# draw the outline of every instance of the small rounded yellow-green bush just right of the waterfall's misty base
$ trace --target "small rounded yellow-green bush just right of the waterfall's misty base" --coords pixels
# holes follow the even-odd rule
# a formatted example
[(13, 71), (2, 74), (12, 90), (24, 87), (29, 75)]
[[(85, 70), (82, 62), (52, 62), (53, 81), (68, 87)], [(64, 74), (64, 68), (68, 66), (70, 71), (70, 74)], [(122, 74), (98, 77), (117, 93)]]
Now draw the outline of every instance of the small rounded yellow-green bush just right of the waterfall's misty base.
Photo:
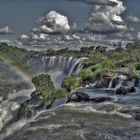
[(80, 86), (80, 81), (77, 77), (74, 76), (66, 77), (62, 81), (62, 87), (65, 88), (68, 92), (74, 90), (79, 86)]

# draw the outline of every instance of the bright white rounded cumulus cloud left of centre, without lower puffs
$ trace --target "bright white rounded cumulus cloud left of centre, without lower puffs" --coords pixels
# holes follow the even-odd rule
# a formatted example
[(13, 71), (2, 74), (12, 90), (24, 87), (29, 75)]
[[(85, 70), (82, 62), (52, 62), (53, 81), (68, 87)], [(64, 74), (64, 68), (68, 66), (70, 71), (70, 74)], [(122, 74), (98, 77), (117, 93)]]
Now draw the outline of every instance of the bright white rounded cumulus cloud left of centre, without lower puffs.
[[(66, 33), (70, 31), (68, 18), (56, 11), (50, 11), (46, 16), (39, 18), (43, 23), (39, 30), (44, 33)], [(38, 29), (34, 29), (38, 30)]]

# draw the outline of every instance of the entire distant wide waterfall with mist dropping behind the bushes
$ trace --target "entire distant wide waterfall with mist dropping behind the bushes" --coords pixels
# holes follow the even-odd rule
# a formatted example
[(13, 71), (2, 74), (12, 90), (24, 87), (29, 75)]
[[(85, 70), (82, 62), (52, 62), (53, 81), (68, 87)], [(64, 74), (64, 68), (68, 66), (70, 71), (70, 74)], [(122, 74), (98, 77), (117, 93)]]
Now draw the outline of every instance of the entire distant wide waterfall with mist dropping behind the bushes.
[(72, 56), (37, 57), (30, 62), (29, 68), (33, 75), (40, 73), (50, 74), (56, 88), (59, 88), (64, 77), (80, 72), (83, 68), (82, 62), (85, 59), (84, 57), (75, 58)]

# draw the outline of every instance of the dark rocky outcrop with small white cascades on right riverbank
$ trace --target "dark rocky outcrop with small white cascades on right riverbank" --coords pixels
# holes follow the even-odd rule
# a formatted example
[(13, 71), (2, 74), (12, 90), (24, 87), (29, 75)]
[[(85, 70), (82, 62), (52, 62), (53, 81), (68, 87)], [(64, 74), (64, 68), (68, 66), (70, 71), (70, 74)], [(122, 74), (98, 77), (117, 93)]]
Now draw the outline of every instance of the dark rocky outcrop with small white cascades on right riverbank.
[(134, 81), (130, 79), (128, 69), (120, 68), (102, 75), (94, 88), (114, 89), (116, 94), (125, 95), (136, 91)]

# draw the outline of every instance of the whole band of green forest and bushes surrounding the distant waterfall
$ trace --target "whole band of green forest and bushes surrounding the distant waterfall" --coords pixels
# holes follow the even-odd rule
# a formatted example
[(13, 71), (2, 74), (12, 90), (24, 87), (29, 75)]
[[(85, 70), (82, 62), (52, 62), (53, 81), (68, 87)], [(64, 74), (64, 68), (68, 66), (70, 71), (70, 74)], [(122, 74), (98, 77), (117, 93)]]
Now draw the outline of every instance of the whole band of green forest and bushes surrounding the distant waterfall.
[[(50, 104), (57, 98), (63, 97), (79, 86), (84, 86), (90, 81), (94, 81), (101, 75), (108, 73), (115, 68), (128, 68), (130, 77), (138, 77), (137, 70), (140, 69), (140, 44), (128, 44), (127, 50), (118, 48), (117, 50), (105, 51), (101, 46), (95, 50), (94, 46), (81, 48), (78, 50), (62, 49), (59, 51), (47, 50), (46, 52), (27, 51), (26, 49), (0, 44), (0, 59), (18, 68), (30, 76), (28, 61), (41, 58), (43, 56), (73, 56), (75, 58), (86, 57), (83, 70), (77, 74), (67, 77), (62, 82), (61, 90), (56, 90), (50, 76), (40, 75), (33, 78), (33, 83), (39, 93), (40, 99), (47, 99)], [(32, 75), (31, 75), (32, 77)]]

